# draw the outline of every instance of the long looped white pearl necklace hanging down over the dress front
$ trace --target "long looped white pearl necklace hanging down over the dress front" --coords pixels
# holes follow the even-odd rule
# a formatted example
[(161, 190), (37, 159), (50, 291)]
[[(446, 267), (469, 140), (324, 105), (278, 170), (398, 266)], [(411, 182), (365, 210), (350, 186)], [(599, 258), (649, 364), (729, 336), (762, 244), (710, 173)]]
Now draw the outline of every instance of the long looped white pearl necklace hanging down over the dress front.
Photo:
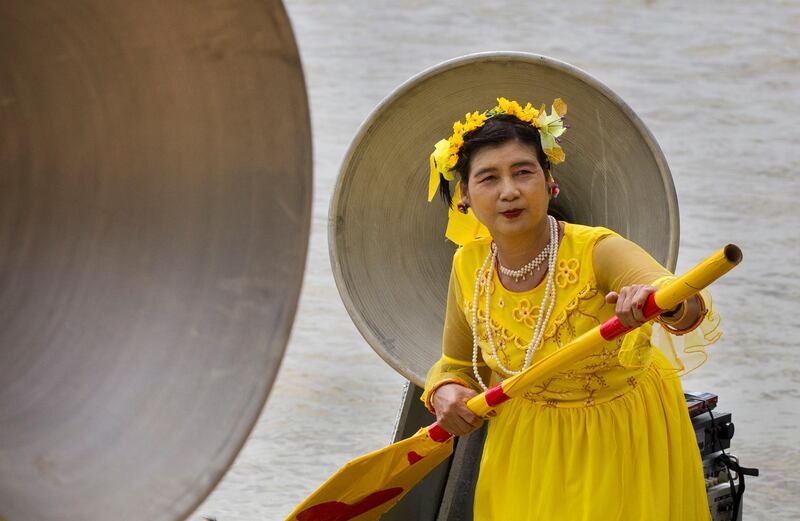
[[(492, 336), (492, 328), (491, 328), (491, 318), (489, 317), (489, 305), (491, 303), (491, 291), (490, 286), (492, 283), (492, 274), (494, 264), (497, 261), (497, 245), (492, 244), (492, 247), (489, 251), (489, 254), (486, 256), (486, 260), (483, 261), (483, 266), (481, 266), (480, 271), (478, 272), (478, 278), (475, 281), (475, 293), (472, 299), (472, 372), (475, 374), (475, 378), (483, 388), (486, 390), (486, 384), (483, 382), (480, 373), (478, 372), (478, 293), (480, 290), (481, 280), (483, 279), (484, 273), (486, 274), (486, 282), (485, 282), (485, 292), (486, 292), (486, 318), (484, 320), (484, 327), (486, 328), (486, 337), (489, 341), (489, 346), (492, 349), (492, 358), (497, 363), (497, 367), (500, 368), (501, 371), (506, 373), (508, 376), (519, 374), (525, 369), (530, 366), (531, 360), (533, 359), (533, 355), (539, 349), (539, 345), (541, 344), (542, 337), (544, 336), (544, 330), (547, 323), (550, 321), (550, 315), (553, 312), (553, 306), (556, 303), (556, 286), (554, 283), (554, 273), (556, 271), (556, 256), (558, 254), (558, 223), (556, 222), (555, 218), (552, 216), (548, 216), (548, 222), (550, 224), (550, 242), (548, 243), (549, 248), (547, 255), (547, 282), (545, 283), (544, 288), (544, 296), (542, 297), (542, 302), (539, 305), (539, 318), (536, 320), (536, 326), (533, 328), (533, 338), (531, 338), (528, 347), (525, 349), (525, 362), (522, 364), (522, 367), (519, 371), (513, 371), (503, 365), (500, 361), (500, 357), (497, 355), (497, 346), (494, 343), (494, 338)], [(488, 273), (487, 273), (487, 266), (488, 266)], [(547, 313), (542, 313), (542, 310), (547, 307)]]

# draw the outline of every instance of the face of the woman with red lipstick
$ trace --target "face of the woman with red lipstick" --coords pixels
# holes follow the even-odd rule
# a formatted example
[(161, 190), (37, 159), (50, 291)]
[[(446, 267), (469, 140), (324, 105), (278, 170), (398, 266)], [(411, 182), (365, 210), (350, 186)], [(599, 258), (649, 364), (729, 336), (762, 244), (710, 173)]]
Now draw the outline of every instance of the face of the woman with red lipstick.
[(549, 195), (533, 147), (509, 141), (479, 149), (472, 156), (462, 198), (495, 239), (540, 229)]

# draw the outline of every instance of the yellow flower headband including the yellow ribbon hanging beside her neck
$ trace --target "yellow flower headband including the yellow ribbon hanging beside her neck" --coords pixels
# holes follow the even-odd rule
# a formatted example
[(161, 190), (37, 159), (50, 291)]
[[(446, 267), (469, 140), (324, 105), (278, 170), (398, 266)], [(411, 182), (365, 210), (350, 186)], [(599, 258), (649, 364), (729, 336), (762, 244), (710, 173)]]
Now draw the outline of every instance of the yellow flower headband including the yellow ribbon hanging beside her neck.
[[(545, 106), (536, 110), (530, 103), (522, 108), (516, 101), (506, 98), (497, 98), (497, 106), (480, 112), (467, 113), (465, 120), (453, 123), (453, 135), (436, 143), (430, 157), (431, 174), (428, 180), (428, 202), (436, 195), (442, 178), (453, 181), (453, 168), (458, 162), (458, 152), (464, 145), (464, 134), (482, 127), (487, 120), (500, 115), (509, 114), (517, 119), (529, 123), (539, 131), (542, 149), (551, 164), (557, 165), (564, 161), (564, 151), (561, 149), (559, 139), (569, 128), (564, 123), (567, 113), (567, 104), (561, 98), (553, 101), (552, 110), (548, 115)], [(461, 199), (461, 183), (456, 183), (453, 199)], [(489, 230), (475, 217), (471, 209), (461, 213), (448, 209), (447, 232), (445, 236), (456, 244), (464, 245), (472, 240), (489, 236)]]

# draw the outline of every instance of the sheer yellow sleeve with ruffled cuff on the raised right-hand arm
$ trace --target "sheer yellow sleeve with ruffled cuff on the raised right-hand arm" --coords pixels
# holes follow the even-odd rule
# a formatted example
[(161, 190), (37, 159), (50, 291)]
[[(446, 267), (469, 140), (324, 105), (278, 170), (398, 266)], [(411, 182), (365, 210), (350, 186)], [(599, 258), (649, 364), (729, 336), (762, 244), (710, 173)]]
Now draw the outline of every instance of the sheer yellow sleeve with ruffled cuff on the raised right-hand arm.
[[(595, 279), (600, 291), (619, 291), (620, 288), (632, 284), (650, 284), (655, 287), (663, 285), (675, 276), (661, 266), (637, 244), (619, 236), (608, 236), (600, 239), (592, 252)], [(711, 294), (707, 290), (700, 292), (705, 306), (706, 315), (700, 326), (695, 330), (681, 336), (667, 332), (658, 323), (652, 324), (650, 343), (656, 346), (666, 358), (661, 364), (662, 369), (672, 371), (676, 376), (682, 376), (697, 369), (708, 360), (706, 346), (715, 343), (722, 336), (720, 317), (714, 311)], [(642, 326), (642, 333), (648, 326)], [(632, 335), (627, 335), (632, 336)], [(634, 338), (627, 338), (619, 352), (620, 362), (623, 365), (635, 365), (633, 360), (638, 360), (636, 350), (641, 348), (641, 342)]]

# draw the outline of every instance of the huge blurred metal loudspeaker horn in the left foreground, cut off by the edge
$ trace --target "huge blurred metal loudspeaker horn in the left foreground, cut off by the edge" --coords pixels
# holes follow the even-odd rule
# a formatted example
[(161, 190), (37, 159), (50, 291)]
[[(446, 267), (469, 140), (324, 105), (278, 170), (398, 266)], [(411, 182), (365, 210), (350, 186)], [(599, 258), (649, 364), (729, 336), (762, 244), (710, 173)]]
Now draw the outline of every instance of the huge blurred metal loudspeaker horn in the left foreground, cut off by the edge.
[(272, 386), (310, 223), (278, 0), (0, 4), (0, 519), (184, 519)]

